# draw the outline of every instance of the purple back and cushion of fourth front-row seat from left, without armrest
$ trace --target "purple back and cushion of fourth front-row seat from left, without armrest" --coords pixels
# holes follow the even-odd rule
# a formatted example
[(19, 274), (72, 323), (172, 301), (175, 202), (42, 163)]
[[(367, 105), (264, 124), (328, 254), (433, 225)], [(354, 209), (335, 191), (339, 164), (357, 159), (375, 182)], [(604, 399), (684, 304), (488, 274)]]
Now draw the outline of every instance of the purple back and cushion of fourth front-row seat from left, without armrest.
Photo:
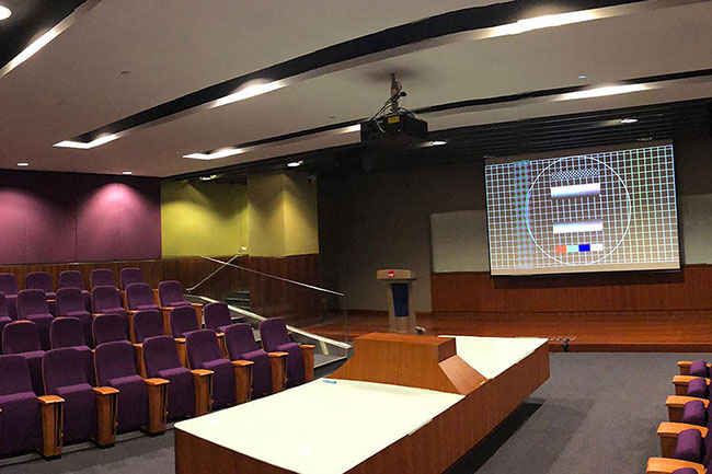
[(143, 342), (143, 365), (150, 378), (165, 379), (169, 419), (182, 418), (195, 412), (195, 389), (191, 371), (181, 366), (175, 343), (170, 336), (149, 337)]

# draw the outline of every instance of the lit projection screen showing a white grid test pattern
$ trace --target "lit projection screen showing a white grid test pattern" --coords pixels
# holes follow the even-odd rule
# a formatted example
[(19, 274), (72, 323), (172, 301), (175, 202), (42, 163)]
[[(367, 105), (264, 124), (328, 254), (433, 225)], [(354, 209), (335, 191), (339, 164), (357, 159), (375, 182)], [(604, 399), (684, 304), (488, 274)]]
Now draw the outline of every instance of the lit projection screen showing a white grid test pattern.
[[(487, 164), (485, 183), (493, 274), (679, 263), (671, 144)], [(552, 186), (592, 183), (599, 195), (551, 198)], [(582, 221), (604, 230), (553, 233), (554, 223)], [(602, 251), (556, 253), (578, 244)]]

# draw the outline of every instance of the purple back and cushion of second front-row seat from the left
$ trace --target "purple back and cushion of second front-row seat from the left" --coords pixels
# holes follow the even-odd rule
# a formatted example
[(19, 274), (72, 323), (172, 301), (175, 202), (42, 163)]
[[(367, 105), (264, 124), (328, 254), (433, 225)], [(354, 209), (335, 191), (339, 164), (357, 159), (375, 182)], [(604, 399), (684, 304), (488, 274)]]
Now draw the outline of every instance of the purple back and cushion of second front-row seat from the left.
[(51, 349), (43, 357), (42, 368), (47, 394), (65, 398), (65, 442), (95, 438), (96, 398), (80, 352), (69, 347)]

